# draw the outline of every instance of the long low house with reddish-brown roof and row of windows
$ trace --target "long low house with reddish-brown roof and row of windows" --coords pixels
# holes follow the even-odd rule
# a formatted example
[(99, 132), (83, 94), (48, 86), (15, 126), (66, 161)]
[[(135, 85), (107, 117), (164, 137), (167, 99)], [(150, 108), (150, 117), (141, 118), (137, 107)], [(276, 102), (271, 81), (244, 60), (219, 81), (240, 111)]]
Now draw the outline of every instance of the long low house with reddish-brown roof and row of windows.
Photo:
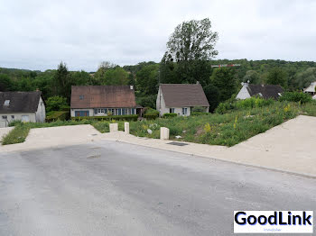
[(71, 117), (136, 114), (140, 109), (134, 86), (71, 86)]

